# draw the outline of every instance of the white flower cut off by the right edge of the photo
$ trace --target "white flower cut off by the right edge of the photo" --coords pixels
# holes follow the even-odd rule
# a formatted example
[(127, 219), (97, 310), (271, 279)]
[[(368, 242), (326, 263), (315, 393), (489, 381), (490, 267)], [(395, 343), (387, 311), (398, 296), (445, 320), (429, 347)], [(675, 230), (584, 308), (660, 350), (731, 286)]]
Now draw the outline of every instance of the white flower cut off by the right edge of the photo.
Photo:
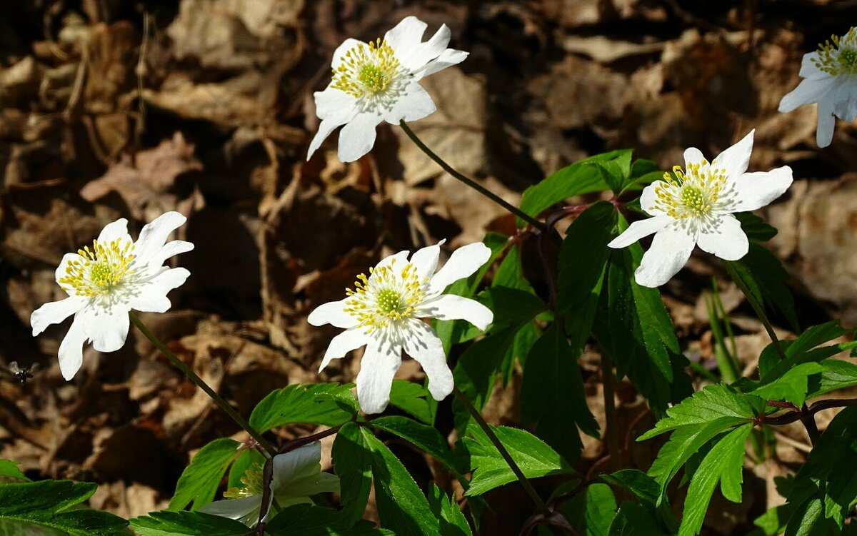
[(818, 103), (816, 142), (829, 146), (836, 117), (849, 122), (857, 117), (857, 30), (852, 27), (842, 38), (830, 36), (817, 51), (804, 54), (800, 76), (805, 80), (782, 98), (779, 110)]

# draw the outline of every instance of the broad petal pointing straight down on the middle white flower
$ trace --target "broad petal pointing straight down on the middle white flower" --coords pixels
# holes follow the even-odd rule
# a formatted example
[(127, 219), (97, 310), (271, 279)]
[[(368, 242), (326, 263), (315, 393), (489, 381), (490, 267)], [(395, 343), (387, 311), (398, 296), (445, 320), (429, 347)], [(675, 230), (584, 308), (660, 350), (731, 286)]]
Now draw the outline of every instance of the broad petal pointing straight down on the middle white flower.
[(357, 373), (357, 400), (367, 414), (380, 414), (390, 402), (393, 376), (402, 365), (402, 348), (373, 340), (363, 352)]

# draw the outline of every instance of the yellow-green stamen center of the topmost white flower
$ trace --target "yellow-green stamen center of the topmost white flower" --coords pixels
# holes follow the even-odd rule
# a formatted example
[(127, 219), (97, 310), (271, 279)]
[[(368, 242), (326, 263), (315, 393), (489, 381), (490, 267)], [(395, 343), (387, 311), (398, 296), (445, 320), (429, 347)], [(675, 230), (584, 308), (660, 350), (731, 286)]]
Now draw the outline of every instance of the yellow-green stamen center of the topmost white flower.
[(361, 43), (345, 52), (333, 69), (333, 87), (357, 98), (383, 92), (399, 73), (399, 60), (387, 41)]

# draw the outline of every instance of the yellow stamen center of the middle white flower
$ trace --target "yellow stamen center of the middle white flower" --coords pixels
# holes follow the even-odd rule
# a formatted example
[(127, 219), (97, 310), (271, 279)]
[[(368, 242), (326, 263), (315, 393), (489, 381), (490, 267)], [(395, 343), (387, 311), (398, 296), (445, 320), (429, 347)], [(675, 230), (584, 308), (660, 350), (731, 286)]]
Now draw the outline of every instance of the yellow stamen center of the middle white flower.
[(345, 289), (350, 298), (345, 301), (345, 313), (355, 317), (357, 327), (367, 328), (367, 333), (386, 328), (391, 323), (409, 319), (425, 297), (424, 285), (417, 269), (411, 263), (396, 270), (396, 259), (389, 265), (369, 269), (371, 278), (365, 274), (357, 276), (354, 290)]

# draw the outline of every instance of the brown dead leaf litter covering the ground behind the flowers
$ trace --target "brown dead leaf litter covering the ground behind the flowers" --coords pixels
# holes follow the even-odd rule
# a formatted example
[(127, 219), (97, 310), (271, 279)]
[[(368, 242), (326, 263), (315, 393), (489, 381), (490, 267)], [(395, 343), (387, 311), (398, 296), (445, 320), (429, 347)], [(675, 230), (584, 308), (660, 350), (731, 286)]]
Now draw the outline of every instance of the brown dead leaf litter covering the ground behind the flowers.
[[(428, 22), (426, 38), (445, 23), (450, 46), (470, 52), (423, 80), (438, 111), (412, 128), (512, 202), (596, 152), (632, 147), (671, 169), (687, 146), (713, 157), (755, 128), (751, 170), (794, 169), (794, 186), (764, 216), (780, 231), (768, 246), (791, 276), (801, 325), (830, 316), (854, 325), (857, 128), (837, 122), (819, 150), (813, 105), (776, 111), (800, 57), (857, 21), (854, 0), (3, 0), (0, 369), (40, 368), (27, 384), (0, 381), (0, 458), (33, 478), (99, 482), (93, 506), (127, 517), (165, 508), (201, 445), (243, 438), (133, 331), (118, 352), (87, 348), (71, 382), (56, 357), (69, 322), (31, 336), (30, 313), (63, 297), (54, 280), (63, 253), (118, 217), (132, 235), (165, 211), (189, 217), (178, 237), (196, 248), (176, 262), (192, 275), (169, 313), (143, 319), (243, 414), (285, 384), (355, 377), (351, 359), (316, 373), (336, 331), (305, 319), (376, 260), (441, 238), (448, 253), (487, 230), (514, 233), (512, 217), (440, 172), (399, 128), (382, 125), (356, 163), (339, 163), (336, 133), (305, 161), (318, 126), (312, 94), (330, 81), (333, 50), (382, 37), (407, 15)], [(543, 289), (540, 267), (524, 268)], [(704, 254), (662, 289), (683, 348), (713, 367), (712, 277), (752, 371), (764, 331)], [(587, 352), (581, 366), (602, 419), (598, 362)], [(422, 372), (405, 360), (399, 378)], [(489, 420), (520, 425), (516, 389), (514, 379), (498, 388)], [(627, 383), (617, 402), (625, 454), (645, 470), (657, 447), (633, 441), (651, 424), (645, 402)], [(778, 433), (776, 458), (746, 468), (744, 503), (714, 499), (707, 533), (744, 534), (782, 503), (773, 479), (809, 442), (800, 425)], [(393, 448), (418, 482), (449, 485), (431, 460)], [(588, 438), (578, 466), (597, 471), (603, 456)], [(494, 493), (484, 533), (505, 533), (506, 518), (520, 527), (526, 500)]]

